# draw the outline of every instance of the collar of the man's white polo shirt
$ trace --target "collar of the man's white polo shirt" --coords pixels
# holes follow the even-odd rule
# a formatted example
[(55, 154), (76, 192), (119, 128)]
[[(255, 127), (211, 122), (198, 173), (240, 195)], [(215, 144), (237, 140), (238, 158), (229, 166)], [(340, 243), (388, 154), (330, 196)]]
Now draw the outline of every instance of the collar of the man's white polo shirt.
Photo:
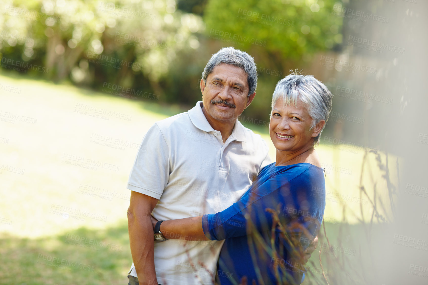
[[(196, 106), (190, 109), (187, 113), (189, 114), (190, 120), (196, 128), (205, 131), (211, 132), (215, 131), (213, 127), (211, 127), (210, 123), (208, 123), (207, 118), (205, 118), (204, 113), (202, 112), (202, 101), (196, 102)], [(235, 127), (232, 130), (233, 138), (240, 142), (247, 142), (247, 137), (245, 136), (244, 126), (236, 120)]]

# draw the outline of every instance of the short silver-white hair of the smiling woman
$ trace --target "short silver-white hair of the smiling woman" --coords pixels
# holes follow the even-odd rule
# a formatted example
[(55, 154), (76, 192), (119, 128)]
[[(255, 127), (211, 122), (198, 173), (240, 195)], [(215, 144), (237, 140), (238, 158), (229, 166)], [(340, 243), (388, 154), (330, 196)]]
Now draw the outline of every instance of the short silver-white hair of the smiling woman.
[[(313, 119), (311, 128), (314, 128), (321, 120), (325, 120), (327, 123), (333, 105), (333, 95), (323, 83), (312, 75), (298, 74), (298, 71), (291, 71), (291, 74), (276, 84), (272, 95), (272, 109), (280, 98), (283, 99), (286, 106), (296, 107), (297, 101), (301, 101)], [(321, 132), (314, 138), (314, 145), (319, 144)]]

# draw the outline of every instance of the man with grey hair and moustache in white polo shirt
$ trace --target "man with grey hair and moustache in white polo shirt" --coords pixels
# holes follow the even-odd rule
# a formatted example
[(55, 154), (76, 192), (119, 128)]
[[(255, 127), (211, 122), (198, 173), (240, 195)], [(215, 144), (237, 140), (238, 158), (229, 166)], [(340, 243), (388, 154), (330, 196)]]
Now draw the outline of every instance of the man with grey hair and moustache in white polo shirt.
[(213, 284), (223, 241), (159, 241), (161, 233), (154, 241), (150, 215), (161, 221), (222, 211), (271, 163), (265, 141), (237, 120), (256, 86), (253, 58), (225, 47), (202, 73), (202, 101), (156, 122), (143, 138), (127, 186), (131, 285)]

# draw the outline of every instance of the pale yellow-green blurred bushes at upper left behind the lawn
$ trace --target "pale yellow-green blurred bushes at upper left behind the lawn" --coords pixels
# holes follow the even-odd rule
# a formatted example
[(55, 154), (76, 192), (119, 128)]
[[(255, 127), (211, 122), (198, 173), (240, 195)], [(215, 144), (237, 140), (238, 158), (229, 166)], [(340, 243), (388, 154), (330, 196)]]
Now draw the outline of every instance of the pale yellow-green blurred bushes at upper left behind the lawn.
[(139, 78), (157, 89), (176, 54), (199, 47), (202, 28), (174, 0), (16, 0), (3, 4), (1, 53), (49, 68), (41, 75), (51, 80), (131, 87)]

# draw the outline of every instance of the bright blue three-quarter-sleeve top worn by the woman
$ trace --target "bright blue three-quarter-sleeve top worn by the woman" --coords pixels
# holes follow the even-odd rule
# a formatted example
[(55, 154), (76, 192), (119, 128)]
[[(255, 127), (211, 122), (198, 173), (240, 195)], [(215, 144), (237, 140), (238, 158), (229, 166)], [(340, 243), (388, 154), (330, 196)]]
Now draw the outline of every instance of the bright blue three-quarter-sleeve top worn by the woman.
[[(275, 210), (275, 222), (270, 208)], [(260, 171), (241, 199), (202, 217), (210, 240), (225, 240), (217, 264), (221, 285), (300, 284), (306, 268), (299, 261), (318, 234), (325, 208), (324, 172), (310, 163)], [(282, 228), (281, 226), (282, 225)]]

